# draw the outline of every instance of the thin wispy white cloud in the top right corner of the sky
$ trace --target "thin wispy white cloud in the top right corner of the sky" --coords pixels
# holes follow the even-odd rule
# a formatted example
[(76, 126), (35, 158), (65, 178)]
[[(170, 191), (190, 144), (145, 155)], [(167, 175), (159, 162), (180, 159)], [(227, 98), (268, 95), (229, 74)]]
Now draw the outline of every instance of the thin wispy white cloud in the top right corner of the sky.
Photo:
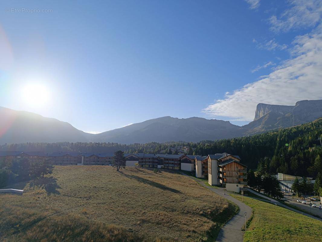
[(287, 32), (292, 29), (314, 27), (322, 15), (322, 2), (320, 0), (292, 0), (291, 6), (279, 17), (272, 15), (268, 20), (273, 32)]

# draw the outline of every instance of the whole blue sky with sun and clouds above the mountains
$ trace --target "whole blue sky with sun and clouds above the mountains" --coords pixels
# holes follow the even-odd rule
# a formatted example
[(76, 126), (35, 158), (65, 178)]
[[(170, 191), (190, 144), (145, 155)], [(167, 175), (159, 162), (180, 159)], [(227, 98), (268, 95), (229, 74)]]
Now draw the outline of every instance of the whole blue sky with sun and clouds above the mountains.
[[(322, 98), (321, 8), (313, 0), (2, 1), (0, 106), (83, 131), (161, 116), (243, 125), (259, 102)], [(51, 12), (26, 12), (37, 9)], [(26, 86), (46, 95), (32, 102)]]

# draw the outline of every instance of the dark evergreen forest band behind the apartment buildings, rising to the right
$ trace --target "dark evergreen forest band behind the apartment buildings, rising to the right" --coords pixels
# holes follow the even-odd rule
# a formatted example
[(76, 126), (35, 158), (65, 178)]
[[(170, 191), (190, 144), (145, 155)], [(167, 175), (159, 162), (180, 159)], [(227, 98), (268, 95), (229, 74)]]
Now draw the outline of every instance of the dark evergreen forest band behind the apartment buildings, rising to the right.
[(322, 170), (322, 149), (318, 137), (322, 137), (322, 118), (311, 123), (280, 129), (254, 136), (202, 141), (198, 143), (167, 142), (122, 145), (117, 143), (24, 143), (2, 145), (0, 150), (45, 151), (45, 152), (91, 152), (111, 153), (123, 150), (126, 153), (160, 153), (169, 147), (191, 146), (195, 155), (227, 152), (239, 155), (249, 168), (265, 169), (298, 176), (313, 176)]

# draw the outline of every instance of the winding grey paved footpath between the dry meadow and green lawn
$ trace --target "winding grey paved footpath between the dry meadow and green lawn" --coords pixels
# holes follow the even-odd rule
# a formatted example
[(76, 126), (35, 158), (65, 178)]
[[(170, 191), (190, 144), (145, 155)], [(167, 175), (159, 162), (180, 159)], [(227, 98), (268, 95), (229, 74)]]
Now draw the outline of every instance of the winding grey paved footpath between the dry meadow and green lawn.
[[(185, 175), (185, 174), (183, 174)], [(217, 240), (218, 242), (241, 242), (243, 240), (244, 232), (242, 231), (242, 227), (245, 225), (245, 215), (244, 212), (247, 212), (246, 220), (248, 220), (251, 217), (251, 207), (247, 206), (246, 204), (242, 203), (241, 201), (233, 198), (232, 196), (225, 195), (225, 191), (223, 188), (218, 187), (210, 187), (205, 185), (205, 181), (201, 181), (199, 179), (196, 179), (192, 176), (189, 176), (192, 179), (194, 179), (196, 182), (198, 182), (201, 186), (213, 191), (214, 193), (218, 194), (219, 196), (222, 196), (230, 201), (232, 201), (234, 204), (236, 204), (239, 207), (239, 212), (232, 217), (231, 220), (229, 220), (219, 231)], [(226, 191), (227, 192), (227, 191)]]

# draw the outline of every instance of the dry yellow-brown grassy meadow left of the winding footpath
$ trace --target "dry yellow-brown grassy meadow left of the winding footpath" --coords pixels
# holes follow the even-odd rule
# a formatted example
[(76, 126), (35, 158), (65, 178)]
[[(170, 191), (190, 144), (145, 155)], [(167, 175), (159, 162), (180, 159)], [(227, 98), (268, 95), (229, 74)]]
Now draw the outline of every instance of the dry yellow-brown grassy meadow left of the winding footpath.
[(189, 177), (56, 166), (0, 195), (0, 241), (214, 241), (238, 210)]

